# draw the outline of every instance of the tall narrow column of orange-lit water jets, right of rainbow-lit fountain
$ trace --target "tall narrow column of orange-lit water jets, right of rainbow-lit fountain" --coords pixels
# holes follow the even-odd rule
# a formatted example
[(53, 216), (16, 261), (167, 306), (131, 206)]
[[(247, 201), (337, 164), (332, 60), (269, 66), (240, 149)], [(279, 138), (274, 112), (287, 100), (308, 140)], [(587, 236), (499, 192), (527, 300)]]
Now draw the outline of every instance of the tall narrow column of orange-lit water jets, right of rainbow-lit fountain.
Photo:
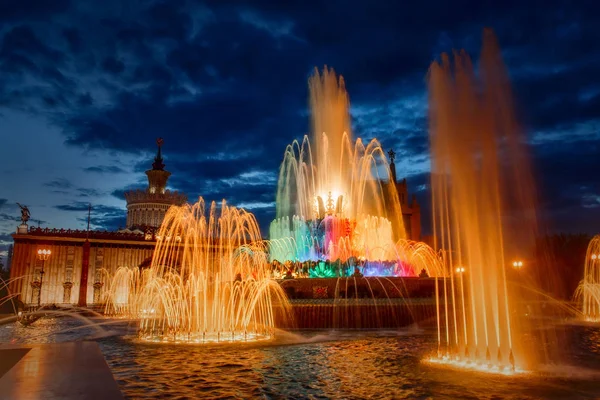
[(484, 32), (479, 74), (464, 51), (444, 54), (429, 90), (434, 248), (446, 277), (432, 361), (514, 373), (527, 354), (505, 269), (508, 253), (533, 242), (534, 185), (493, 33)]

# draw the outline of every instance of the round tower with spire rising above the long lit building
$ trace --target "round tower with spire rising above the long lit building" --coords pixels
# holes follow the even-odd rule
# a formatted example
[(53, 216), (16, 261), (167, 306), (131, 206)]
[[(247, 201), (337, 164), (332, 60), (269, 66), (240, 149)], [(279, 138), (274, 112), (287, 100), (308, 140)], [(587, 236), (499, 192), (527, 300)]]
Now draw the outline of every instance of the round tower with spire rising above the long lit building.
[(167, 181), (171, 173), (165, 170), (163, 162), (161, 153), (163, 139), (158, 138), (156, 144), (158, 150), (152, 169), (146, 171), (148, 187), (145, 190), (131, 190), (125, 193), (127, 224), (122, 232), (153, 231), (160, 226), (169, 207), (180, 206), (187, 202), (187, 197), (183, 193), (167, 189)]

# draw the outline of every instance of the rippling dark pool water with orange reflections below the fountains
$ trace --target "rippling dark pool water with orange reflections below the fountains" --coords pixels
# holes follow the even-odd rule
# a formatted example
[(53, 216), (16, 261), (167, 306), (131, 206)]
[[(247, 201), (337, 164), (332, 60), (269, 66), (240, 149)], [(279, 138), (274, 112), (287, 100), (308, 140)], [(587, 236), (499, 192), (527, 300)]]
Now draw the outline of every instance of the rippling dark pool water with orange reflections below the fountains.
[[(97, 320), (99, 322), (101, 320)], [(32, 327), (0, 325), (0, 342), (89, 339), (95, 329), (68, 318)], [(127, 332), (121, 322), (111, 331)], [(562, 378), (509, 378), (440, 369), (420, 360), (435, 348), (430, 332), (282, 333), (269, 344), (156, 345), (128, 337), (97, 339), (128, 398), (600, 398), (600, 328), (570, 327), (571, 363)], [(59, 334), (51, 332), (61, 331)], [(133, 332), (130, 329), (129, 332)], [(42, 334), (43, 333), (43, 334)], [(570, 378), (565, 378), (569, 376)]]

